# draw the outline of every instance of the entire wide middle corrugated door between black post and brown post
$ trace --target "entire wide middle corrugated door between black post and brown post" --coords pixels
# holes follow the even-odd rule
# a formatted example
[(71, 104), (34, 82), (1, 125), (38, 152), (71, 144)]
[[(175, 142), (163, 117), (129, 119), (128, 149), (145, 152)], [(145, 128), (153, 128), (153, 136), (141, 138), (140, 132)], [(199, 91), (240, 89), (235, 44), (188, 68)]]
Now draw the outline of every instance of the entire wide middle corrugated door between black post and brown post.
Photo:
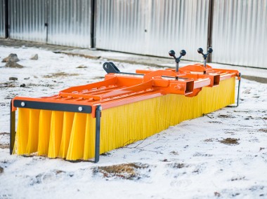
[(99, 0), (96, 48), (168, 57), (182, 48), (201, 60), (207, 48), (209, 0)]

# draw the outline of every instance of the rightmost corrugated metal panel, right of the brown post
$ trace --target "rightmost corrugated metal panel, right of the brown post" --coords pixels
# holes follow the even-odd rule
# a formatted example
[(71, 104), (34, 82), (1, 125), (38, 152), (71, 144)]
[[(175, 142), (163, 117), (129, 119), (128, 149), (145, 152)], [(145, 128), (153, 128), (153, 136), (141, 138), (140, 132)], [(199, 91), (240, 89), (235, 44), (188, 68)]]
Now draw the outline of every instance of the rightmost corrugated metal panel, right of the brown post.
[(214, 0), (213, 62), (267, 68), (267, 0)]

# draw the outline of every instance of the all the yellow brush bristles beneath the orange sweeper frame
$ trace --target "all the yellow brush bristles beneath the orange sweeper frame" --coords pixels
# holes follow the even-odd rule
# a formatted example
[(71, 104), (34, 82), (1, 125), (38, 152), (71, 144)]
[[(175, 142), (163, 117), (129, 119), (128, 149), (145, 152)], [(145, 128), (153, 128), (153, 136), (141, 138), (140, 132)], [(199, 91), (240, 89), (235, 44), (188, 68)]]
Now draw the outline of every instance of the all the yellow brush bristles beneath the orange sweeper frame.
[[(195, 97), (162, 95), (102, 111), (100, 153), (145, 139), (203, 114), (235, 103), (235, 78), (202, 88)], [(14, 153), (88, 160), (95, 153), (96, 119), (91, 114), (18, 110)]]

